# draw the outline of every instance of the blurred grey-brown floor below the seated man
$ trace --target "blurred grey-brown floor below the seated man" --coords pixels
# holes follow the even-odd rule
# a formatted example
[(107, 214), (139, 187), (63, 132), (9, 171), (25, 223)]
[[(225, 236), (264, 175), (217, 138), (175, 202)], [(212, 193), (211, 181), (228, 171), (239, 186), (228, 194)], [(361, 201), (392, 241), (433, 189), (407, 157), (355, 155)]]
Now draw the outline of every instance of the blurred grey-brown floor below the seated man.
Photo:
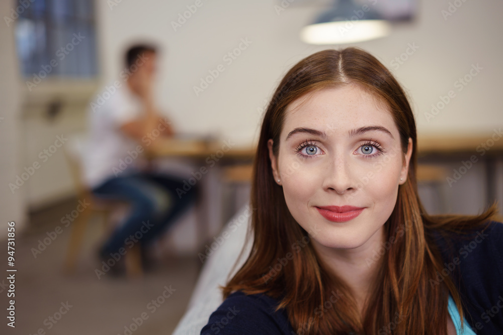
[[(37, 248), (39, 240), (43, 241), (47, 232), (59, 224), (61, 213), (74, 206), (69, 201), (32, 215), (28, 232), (17, 237), (16, 328), (6, 326), (3, 321), (0, 333), (171, 334), (191, 296), (199, 260), (164, 257), (143, 278), (129, 280), (107, 273), (98, 279), (95, 250), (99, 239), (88, 234), (75, 273), (66, 275), (62, 265), (70, 227), (37, 253), (36, 258), (32, 248)], [(99, 223), (96, 222), (96, 231)], [(7, 280), (2, 279), (2, 319), (6, 320), (8, 288), (4, 288)]]

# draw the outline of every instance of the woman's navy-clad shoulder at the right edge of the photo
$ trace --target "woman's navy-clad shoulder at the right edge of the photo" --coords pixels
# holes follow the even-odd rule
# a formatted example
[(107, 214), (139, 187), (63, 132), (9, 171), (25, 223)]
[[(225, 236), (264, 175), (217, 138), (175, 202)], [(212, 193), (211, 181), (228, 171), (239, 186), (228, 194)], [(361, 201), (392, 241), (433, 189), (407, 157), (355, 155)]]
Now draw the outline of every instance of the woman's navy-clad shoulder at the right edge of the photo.
[(468, 234), (447, 234), (437, 240), (442, 253), (443, 268), (436, 272), (431, 285), (442, 282), (447, 276), (453, 279), (467, 320), (481, 333), (500, 333), (503, 314), (487, 310), (499, 303), (503, 294), (503, 224), (489, 221), (484, 227)]

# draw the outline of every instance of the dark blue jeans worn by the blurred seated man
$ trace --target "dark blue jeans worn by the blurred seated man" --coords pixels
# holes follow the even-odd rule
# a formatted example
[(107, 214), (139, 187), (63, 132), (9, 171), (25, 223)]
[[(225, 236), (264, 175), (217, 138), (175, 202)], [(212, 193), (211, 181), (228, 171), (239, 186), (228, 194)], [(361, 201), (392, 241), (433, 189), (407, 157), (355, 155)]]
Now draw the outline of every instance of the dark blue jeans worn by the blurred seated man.
[(113, 177), (95, 187), (96, 196), (124, 200), (131, 206), (129, 216), (102, 247), (101, 257), (109, 258), (120, 248), (129, 249), (137, 243), (145, 247), (160, 236), (195, 199), (194, 186), (181, 196), (177, 188), (183, 189), (183, 180), (145, 172)]

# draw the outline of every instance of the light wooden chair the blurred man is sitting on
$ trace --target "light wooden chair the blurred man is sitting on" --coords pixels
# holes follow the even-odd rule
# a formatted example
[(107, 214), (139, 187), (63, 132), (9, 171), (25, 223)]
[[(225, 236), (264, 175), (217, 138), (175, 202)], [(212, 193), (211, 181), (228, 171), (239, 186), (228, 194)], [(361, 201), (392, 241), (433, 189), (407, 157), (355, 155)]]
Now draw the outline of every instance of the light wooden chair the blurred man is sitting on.
[[(86, 187), (82, 181), (82, 152), (85, 138), (81, 136), (70, 137), (68, 143), (64, 147), (64, 154), (70, 168), (70, 172), (74, 181), (77, 199), (86, 200), (90, 203), (72, 222), (71, 235), (68, 241), (68, 248), (65, 259), (65, 270), (67, 273), (73, 273), (77, 263), (78, 253), (82, 246), (82, 240), (88, 228), (90, 219), (93, 214), (101, 215), (104, 222), (104, 230), (108, 234), (111, 233), (113, 227), (110, 225), (110, 216), (112, 212), (119, 206), (124, 206), (123, 201), (108, 200), (96, 197), (91, 190)], [(141, 276), (141, 250), (138, 245), (128, 249), (124, 255), (126, 272), (128, 277)]]

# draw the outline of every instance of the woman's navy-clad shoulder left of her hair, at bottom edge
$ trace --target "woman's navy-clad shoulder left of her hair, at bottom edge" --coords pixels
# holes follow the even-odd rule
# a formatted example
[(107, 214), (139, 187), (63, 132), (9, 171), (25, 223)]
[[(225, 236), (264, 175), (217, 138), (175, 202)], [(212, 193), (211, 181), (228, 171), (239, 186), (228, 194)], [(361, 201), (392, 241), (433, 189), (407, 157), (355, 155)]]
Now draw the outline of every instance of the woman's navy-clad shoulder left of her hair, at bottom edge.
[(291, 334), (293, 330), (279, 301), (266, 294), (230, 294), (210, 315), (201, 335)]

